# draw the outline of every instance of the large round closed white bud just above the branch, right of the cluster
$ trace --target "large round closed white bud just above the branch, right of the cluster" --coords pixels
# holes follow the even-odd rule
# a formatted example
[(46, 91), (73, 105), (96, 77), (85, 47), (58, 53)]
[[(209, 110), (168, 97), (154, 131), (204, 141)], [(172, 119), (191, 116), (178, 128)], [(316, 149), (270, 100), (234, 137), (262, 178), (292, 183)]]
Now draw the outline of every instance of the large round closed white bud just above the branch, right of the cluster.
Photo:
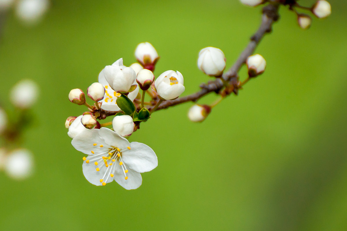
[(216, 47), (205, 47), (199, 52), (198, 68), (207, 75), (220, 77), (225, 69), (225, 55)]

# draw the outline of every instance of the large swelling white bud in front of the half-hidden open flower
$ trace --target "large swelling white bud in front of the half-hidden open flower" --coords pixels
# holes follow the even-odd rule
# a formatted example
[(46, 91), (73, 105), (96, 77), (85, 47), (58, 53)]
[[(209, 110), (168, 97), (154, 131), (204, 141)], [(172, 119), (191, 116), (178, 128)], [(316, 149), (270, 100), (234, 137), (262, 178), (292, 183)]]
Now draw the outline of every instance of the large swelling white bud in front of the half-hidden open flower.
[(128, 92), (136, 79), (134, 69), (124, 66), (105, 66), (104, 76), (110, 87), (120, 93)]

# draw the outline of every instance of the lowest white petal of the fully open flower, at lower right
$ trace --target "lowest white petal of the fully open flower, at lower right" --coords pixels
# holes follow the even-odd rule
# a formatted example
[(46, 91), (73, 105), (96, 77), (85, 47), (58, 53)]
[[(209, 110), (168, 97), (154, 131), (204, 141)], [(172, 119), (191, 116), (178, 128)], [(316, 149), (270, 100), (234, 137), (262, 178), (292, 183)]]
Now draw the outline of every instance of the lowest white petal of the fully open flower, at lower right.
[(142, 177), (141, 174), (138, 172), (128, 169), (127, 172), (128, 179), (126, 180), (124, 177), (124, 173), (122, 168), (117, 167), (115, 171), (115, 181), (122, 186), (123, 188), (130, 190), (130, 189), (136, 189), (141, 186), (142, 184)]

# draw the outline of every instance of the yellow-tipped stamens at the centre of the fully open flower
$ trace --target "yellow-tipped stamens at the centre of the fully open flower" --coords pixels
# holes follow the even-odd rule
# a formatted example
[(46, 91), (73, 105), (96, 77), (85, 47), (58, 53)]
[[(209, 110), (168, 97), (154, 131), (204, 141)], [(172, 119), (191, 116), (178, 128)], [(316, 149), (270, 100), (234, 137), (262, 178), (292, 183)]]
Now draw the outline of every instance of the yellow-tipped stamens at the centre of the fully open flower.
[(129, 170), (127, 169), (122, 159), (122, 153), (130, 150), (130, 147), (127, 147), (127, 149), (125, 150), (121, 150), (116, 146), (110, 146), (107, 151), (95, 154), (98, 148), (103, 148), (103, 145), (94, 143), (93, 146), (95, 146), (95, 151), (91, 150), (92, 154), (88, 157), (83, 157), (83, 160), (87, 164), (95, 165), (95, 171), (100, 171), (103, 168), (107, 168), (105, 170), (104, 176), (102, 177), (102, 179), (100, 179), (100, 183), (102, 183), (102, 185), (106, 185), (109, 177), (113, 178), (115, 176), (114, 174), (117, 166), (120, 166), (122, 168), (124, 179), (128, 179), (127, 172)]

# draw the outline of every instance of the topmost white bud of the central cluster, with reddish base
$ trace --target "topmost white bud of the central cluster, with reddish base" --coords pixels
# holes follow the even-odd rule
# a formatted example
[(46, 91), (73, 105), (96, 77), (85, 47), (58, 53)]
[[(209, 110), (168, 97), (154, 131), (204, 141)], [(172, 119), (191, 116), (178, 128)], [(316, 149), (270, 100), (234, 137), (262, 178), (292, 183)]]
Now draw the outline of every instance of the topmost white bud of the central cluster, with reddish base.
[(140, 43), (135, 49), (135, 57), (144, 68), (154, 70), (156, 62), (159, 60), (158, 53), (149, 42)]

